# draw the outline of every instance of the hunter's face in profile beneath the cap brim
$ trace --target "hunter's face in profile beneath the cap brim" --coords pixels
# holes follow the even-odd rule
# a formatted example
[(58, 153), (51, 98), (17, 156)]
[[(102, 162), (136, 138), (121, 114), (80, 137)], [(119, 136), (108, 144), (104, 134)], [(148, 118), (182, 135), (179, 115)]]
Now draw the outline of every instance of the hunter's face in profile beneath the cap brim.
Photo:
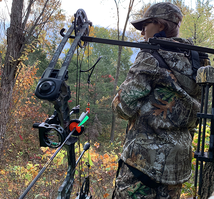
[(142, 26), (141, 35), (144, 35), (144, 39), (148, 41), (149, 38), (153, 37), (154, 34), (162, 31), (164, 27), (160, 24), (153, 23), (152, 20), (145, 21)]

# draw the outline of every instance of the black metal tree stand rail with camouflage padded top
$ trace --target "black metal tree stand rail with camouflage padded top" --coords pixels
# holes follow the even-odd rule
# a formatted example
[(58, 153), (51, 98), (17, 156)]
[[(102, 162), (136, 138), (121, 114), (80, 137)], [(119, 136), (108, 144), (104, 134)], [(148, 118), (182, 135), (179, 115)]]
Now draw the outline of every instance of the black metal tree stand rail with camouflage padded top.
[[(198, 69), (197, 84), (201, 85), (201, 110), (197, 114), (199, 118), (199, 132), (198, 132), (198, 143), (197, 150), (195, 151), (194, 157), (196, 158), (196, 169), (195, 169), (195, 182), (194, 182), (194, 199), (197, 196), (197, 184), (199, 175), (199, 188), (198, 188), (198, 199), (207, 198), (207, 196), (202, 195), (203, 184), (203, 172), (204, 172), (204, 162), (212, 164), (214, 162), (214, 68), (212, 66), (201, 67)], [(211, 107), (209, 106), (209, 91), (212, 91)], [(211, 113), (208, 113), (209, 108), (211, 108)], [(207, 122), (210, 121), (210, 140), (209, 140), (209, 150), (205, 152), (205, 136)], [(200, 164), (199, 164), (200, 162)], [(198, 173), (198, 167), (200, 170)], [(206, 185), (208, 186), (208, 184)], [(210, 193), (209, 193), (210, 194)], [(210, 195), (209, 195), (210, 196)]]

